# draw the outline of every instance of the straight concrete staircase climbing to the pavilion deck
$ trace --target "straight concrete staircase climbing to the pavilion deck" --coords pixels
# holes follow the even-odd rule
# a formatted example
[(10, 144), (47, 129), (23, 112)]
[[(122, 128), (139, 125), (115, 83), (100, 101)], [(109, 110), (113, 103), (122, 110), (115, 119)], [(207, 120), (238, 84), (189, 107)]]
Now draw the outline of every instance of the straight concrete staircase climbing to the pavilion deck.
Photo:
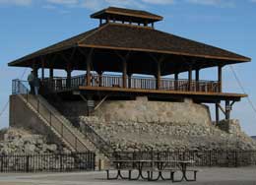
[(96, 152), (95, 145), (40, 95), (18, 94), (36, 116), (72, 152)]

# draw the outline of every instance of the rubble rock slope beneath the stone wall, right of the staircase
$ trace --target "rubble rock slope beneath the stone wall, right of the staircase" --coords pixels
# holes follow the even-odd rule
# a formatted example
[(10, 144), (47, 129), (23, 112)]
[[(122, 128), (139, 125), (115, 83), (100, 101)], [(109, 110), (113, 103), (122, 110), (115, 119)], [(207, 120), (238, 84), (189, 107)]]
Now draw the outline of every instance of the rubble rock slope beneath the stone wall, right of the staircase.
[[(221, 123), (227, 124), (225, 121)], [(256, 142), (240, 130), (237, 120), (228, 122), (230, 132), (214, 125), (190, 122), (139, 123), (105, 121), (98, 117), (81, 116), (82, 130), (85, 124), (94, 128), (117, 152), (256, 150)]]

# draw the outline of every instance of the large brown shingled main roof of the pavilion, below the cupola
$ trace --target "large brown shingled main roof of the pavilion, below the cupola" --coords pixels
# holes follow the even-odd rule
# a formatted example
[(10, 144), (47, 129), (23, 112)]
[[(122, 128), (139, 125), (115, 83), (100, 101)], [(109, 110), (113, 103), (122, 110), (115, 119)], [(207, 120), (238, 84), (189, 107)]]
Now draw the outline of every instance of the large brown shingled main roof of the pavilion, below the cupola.
[[(95, 30), (84, 32), (36, 51), (9, 63), (9, 66), (32, 66), (32, 61), (38, 60), (38, 57), (54, 54), (74, 47), (196, 57), (204, 59), (206, 62), (209, 61), (209, 63), (211, 63), (212, 60), (221, 61), (224, 64), (248, 62), (251, 60), (248, 57), (215, 46), (163, 31), (157, 31), (152, 28), (108, 23)], [(210, 66), (213, 66), (213, 64)]]

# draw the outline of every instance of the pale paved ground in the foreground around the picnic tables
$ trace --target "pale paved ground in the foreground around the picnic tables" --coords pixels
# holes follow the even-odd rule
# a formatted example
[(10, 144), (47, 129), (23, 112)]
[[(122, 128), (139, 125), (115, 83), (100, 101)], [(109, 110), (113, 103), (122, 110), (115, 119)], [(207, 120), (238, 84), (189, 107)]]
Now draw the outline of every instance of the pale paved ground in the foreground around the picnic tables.
[[(175, 184), (256, 185), (256, 167), (200, 168), (197, 182)], [(0, 174), (0, 185), (153, 185), (171, 184), (170, 181), (105, 180), (104, 172)]]

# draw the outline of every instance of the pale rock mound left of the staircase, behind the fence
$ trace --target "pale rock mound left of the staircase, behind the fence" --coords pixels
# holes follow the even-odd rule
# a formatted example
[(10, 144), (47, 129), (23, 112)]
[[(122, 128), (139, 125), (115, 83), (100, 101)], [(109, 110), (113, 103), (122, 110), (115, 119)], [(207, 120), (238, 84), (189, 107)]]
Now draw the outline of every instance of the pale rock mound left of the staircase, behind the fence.
[(24, 129), (9, 128), (0, 131), (0, 154), (56, 154), (69, 151), (47, 142), (45, 136)]

